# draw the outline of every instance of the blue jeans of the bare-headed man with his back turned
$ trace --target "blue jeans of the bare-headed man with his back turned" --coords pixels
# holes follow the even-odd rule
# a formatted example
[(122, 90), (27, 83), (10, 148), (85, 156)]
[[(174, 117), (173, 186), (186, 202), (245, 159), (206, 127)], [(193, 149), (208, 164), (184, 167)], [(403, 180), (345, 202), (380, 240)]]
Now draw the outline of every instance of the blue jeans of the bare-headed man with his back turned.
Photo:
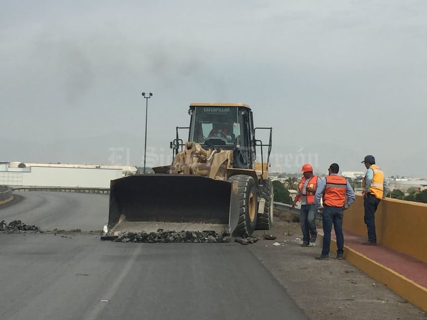
[(337, 236), (337, 254), (344, 252), (344, 235), (342, 233), (342, 214), (343, 210), (341, 207), (330, 207), (325, 205), (322, 213), (323, 220), (323, 246), (322, 255), (328, 256), (331, 246), (331, 231), (332, 224), (334, 224), (335, 235)]

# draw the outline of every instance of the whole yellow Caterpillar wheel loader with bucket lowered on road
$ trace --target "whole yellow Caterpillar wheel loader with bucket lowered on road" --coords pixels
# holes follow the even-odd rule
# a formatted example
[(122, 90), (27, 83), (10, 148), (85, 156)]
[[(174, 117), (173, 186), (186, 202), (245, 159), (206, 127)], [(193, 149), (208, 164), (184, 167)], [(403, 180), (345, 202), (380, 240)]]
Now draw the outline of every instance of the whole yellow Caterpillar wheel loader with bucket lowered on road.
[[(249, 236), (271, 228), (272, 128), (254, 128), (252, 110), (243, 103), (191, 103), (188, 113), (190, 126), (176, 127), (170, 143), (171, 164), (111, 182), (106, 234), (163, 229)], [(188, 129), (187, 142), (179, 129)], [(259, 130), (269, 131), (268, 144), (256, 139)]]

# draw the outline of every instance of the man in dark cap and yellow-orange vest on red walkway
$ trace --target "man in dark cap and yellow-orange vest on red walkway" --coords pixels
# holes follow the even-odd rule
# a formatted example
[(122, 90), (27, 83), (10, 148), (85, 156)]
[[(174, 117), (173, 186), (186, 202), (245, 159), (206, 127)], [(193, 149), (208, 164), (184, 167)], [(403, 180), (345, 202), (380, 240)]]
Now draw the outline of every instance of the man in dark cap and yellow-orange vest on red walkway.
[(363, 245), (377, 245), (377, 235), (375, 231), (375, 211), (384, 196), (384, 190), (388, 188), (388, 183), (384, 179), (384, 173), (375, 164), (375, 158), (368, 155), (362, 161), (366, 167), (365, 178), (363, 179), (363, 204), (365, 208), (365, 224), (368, 229), (368, 241)]

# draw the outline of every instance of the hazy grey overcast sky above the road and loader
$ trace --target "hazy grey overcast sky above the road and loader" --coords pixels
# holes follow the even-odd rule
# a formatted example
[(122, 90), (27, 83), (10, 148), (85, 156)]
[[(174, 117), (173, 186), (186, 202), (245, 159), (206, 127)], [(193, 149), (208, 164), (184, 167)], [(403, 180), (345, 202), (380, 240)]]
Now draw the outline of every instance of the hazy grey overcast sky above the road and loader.
[[(108, 163), (119, 147), (140, 159), (145, 91), (152, 150), (188, 124), (190, 102), (243, 102), (256, 126), (273, 127), (283, 171), (298, 171), (301, 154), (315, 155), (319, 172), (332, 162), (363, 171), (373, 154), (386, 175), (427, 177), (426, 1), (2, 0), (1, 8), (0, 161)], [(79, 150), (60, 141), (79, 141)]]

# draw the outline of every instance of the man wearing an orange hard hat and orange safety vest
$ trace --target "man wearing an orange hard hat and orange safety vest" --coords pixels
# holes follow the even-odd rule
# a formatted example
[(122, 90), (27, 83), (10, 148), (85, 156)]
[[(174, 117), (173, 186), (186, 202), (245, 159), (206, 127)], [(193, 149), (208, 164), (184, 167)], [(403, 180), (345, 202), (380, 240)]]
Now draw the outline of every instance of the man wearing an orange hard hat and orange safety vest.
[(317, 208), (314, 205), (314, 194), (317, 188), (318, 176), (313, 175), (313, 167), (306, 163), (302, 166), (301, 172), (304, 175), (298, 184), (297, 196), (292, 203), (294, 208), (298, 201), (301, 201), (300, 223), (302, 231), (301, 246), (309, 246), (310, 242), (316, 242), (316, 213)]

